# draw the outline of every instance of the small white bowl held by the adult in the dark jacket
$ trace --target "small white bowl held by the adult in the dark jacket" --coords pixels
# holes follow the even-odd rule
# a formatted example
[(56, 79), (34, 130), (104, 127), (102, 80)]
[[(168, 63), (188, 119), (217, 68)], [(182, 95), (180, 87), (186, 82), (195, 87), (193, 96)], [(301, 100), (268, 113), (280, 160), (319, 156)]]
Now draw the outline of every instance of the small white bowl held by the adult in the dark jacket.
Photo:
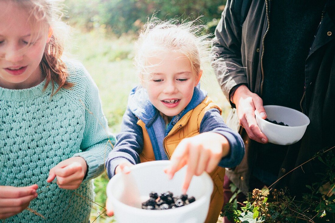
[(299, 141), (305, 134), (310, 119), (302, 112), (278, 105), (264, 106), (267, 118), (283, 122), (288, 126), (277, 125), (262, 119), (255, 111), (257, 125), (268, 137), (269, 142), (278, 145), (290, 145)]

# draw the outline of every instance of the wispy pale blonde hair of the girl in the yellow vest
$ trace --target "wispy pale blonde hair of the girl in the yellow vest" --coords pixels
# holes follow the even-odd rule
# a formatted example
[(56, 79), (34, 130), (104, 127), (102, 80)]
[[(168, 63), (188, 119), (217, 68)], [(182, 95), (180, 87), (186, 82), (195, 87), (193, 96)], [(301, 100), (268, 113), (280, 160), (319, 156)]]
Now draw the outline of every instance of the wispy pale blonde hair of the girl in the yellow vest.
[(164, 51), (173, 50), (184, 54), (191, 62), (192, 70), (199, 74), (205, 64), (213, 59), (210, 34), (205, 34), (205, 26), (199, 25), (200, 19), (160, 20), (148, 19), (135, 43), (134, 65), (141, 81), (147, 74), (147, 59)]

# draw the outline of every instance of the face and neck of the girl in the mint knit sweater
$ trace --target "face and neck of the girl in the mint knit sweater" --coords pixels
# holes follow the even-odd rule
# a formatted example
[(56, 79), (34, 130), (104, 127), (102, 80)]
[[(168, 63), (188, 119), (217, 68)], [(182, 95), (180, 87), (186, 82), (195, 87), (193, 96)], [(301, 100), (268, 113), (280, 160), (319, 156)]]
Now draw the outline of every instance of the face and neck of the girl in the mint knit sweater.
[(34, 42), (28, 43), (31, 30), (27, 10), (14, 1), (0, 0), (0, 87), (24, 89), (41, 82), (40, 62), (43, 57), (49, 29), (36, 22), (42, 30)]

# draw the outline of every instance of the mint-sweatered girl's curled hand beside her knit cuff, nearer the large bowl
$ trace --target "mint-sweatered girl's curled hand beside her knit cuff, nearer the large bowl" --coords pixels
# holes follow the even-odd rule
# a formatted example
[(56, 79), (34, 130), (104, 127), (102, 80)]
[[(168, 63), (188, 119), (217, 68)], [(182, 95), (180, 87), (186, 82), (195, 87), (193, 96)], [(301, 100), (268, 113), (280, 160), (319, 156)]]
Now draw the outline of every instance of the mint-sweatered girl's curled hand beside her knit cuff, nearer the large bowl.
[(75, 190), (79, 188), (86, 171), (87, 164), (82, 157), (71, 157), (61, 161), (50, 170), (47, 182), (51, 183), (57, 177), (59, 188)]

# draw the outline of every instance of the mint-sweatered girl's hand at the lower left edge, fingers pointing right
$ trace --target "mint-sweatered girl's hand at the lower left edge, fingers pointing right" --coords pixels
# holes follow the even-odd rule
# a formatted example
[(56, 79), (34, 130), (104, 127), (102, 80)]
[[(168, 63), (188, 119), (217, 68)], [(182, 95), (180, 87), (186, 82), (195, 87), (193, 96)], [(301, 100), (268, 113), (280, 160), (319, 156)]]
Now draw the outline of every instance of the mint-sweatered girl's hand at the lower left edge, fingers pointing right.
[(38, 186), (28, 187), (0, 186), (0, 219), (6, 219), (22, 212), (32, 199), (37, 198)]

